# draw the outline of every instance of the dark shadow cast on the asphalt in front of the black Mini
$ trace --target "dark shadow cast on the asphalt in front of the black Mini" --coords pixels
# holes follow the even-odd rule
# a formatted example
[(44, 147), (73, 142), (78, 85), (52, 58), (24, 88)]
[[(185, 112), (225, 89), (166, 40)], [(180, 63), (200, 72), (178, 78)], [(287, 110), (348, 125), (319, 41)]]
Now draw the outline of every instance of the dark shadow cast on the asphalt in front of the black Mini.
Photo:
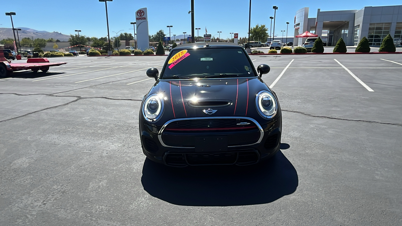
[(270, 203), (296, 191), (299, 183), (295, 168), (281, 151), (255, 166), (174, 168), (147, 158), (141, 182), (150, 195), (189, 206)]

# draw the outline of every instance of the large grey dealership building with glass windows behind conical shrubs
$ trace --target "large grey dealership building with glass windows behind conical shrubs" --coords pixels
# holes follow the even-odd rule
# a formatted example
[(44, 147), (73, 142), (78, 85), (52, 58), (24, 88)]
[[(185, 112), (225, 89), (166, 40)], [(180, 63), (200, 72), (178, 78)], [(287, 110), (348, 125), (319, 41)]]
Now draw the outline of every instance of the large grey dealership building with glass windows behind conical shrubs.
[[(361, 10), (320, 11), (316, 18), (308, 18), (308, 7), (296, 12), (295, 36), (306, 31), (321, 37), (328, 46), (342, 38), (347, 46), (354, 46), (367, 37), (371, 46), (381, 45), (391, 34), (402, 38), (402, 6), (366, 6)], [(301, 46), (306, 38), (294, 38)]]

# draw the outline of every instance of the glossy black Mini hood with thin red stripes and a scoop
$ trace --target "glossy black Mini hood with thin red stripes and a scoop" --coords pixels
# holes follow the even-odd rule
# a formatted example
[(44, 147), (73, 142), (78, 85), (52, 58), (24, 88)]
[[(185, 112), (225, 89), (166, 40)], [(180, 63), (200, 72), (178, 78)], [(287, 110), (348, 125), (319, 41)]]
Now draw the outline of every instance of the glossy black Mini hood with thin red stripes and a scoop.
[[(164, 97), (164, 117), (169, 119), (186, 117), (207, 117), (203, 110), (217, 110), (211, 117), (254, 115), (257, 112), (255, 99), (258, 92), (269, 90), (259, 77), (200, 79), (200, 80), (158, 80), (148, 95)], [(213, 105), (200, 104), (203, 101)], [(216, 106), (215, 103), (228, 103)]]

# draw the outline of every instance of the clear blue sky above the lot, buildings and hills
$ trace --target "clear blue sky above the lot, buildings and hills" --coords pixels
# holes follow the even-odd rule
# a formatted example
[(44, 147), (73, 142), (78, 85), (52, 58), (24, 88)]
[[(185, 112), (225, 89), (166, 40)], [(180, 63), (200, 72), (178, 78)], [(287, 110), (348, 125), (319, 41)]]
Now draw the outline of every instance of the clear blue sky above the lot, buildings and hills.
[[(221, 38), (230, 37), (230, 33), (239, 33), (245, 37), (248, 32), (249, 0), (195, 0), (195, 27), (201, 28), (200, 36), (205, 33), (216, 35), (222, 31)], [(365, 1), (322, 1), (322, 0), (288, 0), (267, 1), (252, 0), (251, 27), (256, 24), (270, 26), (269, 16), (274, 15), (273, 5), (278, 6), (276, 14), (275, 34), (281, 36), (289, 22), (289, 35), (293, 34), (294, 16), (297, 10), (310, 7), (309, 17), (316, 17), (317, 8), (321, 11), (353, 10), (364, 6), (388, 6), (402, 4), (400, 0), (365, 0)], [(29, 27), (39, 31), (58, 31), (69, 35), (74, 30), (82, 30), (86, 36), (105, 37), (107, 35), (105, 4), (98, 0), (0, 0), (2, 14), (0, 27), (11, 27), (10, 16), (4, 12), (16, 12), (13, 16), (14, 27)], [(124, 30), (132, 33), (135, 22), (135, 11), (148, 8), (148, 24), (150, 35), (160, 29), (168, 35), (167, 25), (172, 25), (171, 35), (191, 34), (190, 0), (113, 0), (108, 2), (109, 30)], [(195, 33), (197, 35), (197, 32)]]

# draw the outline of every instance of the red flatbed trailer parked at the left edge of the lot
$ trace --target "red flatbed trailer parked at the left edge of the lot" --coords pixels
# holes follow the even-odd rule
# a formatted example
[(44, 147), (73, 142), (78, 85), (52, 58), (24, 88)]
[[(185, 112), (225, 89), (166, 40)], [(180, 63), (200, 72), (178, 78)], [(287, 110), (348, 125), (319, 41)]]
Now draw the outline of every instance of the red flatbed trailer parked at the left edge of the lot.
[(11, 63), (4, 58), (3, 49), (0, 49), (0, 78), (10, 76), (11, 72), (22, 70), (32, 70), (33, 72), (41, 70), (42, 72), (47, 72), (49, 67), (62, 64), (67, 64), (67, 62), (50, 63), (47, 58), (29, 58), (27, 63)]

